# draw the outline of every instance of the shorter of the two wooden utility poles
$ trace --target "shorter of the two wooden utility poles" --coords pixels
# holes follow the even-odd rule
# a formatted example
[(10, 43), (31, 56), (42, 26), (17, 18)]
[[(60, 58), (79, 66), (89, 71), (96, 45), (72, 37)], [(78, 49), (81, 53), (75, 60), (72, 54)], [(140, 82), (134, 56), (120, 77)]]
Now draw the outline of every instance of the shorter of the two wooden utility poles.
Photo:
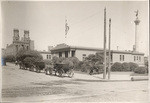
[(111, 44), (111, 19), (109, 19), (109, 56), (108, 56), (108, 79), (110, 79), (110, 69), (111, 69), (111, 57), (110, 57), (110, 44)]

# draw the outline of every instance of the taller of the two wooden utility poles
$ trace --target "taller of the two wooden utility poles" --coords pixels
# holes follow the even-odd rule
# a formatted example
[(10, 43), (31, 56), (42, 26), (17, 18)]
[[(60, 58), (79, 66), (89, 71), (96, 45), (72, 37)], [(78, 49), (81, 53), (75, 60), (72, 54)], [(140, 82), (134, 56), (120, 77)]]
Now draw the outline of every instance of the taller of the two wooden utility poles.
[(104, 73), (103, 79), (106, 79), (106, 8), (104, 9)]

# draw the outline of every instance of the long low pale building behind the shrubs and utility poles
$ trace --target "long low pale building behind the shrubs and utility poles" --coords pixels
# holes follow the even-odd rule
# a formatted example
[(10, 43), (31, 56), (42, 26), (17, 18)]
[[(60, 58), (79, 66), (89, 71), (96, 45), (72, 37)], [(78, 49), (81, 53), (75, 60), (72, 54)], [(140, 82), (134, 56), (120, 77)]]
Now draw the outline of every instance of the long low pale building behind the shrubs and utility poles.
[[(103, 49), (69, 46), (66, 44), (59, 44), (51, 49), (51, 53), (53, 56), (66, 58), (77, 57), (80, 61), (84, 60), (89, 54), (95, 54), (96, 52), (103, 53)], [(134, 62), (138, 65), (144, 65), (144, 53), (111, 50), (111, 63), (115, 62)]]

